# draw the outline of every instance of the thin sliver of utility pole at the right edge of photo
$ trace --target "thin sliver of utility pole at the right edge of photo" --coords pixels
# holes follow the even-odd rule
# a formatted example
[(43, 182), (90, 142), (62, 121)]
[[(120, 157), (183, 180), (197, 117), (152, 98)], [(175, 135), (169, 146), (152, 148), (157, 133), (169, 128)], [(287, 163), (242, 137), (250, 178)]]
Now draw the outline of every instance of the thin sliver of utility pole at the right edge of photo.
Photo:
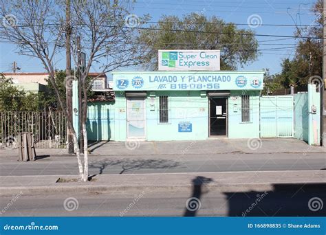
[(321, 119), (323, 122), (323, 128), (321, 130), (323, 146), (326, 148), (326, 0), (323, 0), (323, 85), (320, 93), (323, 93), (323, 100), (320, 100), (323, 105), (323, 110), (320, 110)]

